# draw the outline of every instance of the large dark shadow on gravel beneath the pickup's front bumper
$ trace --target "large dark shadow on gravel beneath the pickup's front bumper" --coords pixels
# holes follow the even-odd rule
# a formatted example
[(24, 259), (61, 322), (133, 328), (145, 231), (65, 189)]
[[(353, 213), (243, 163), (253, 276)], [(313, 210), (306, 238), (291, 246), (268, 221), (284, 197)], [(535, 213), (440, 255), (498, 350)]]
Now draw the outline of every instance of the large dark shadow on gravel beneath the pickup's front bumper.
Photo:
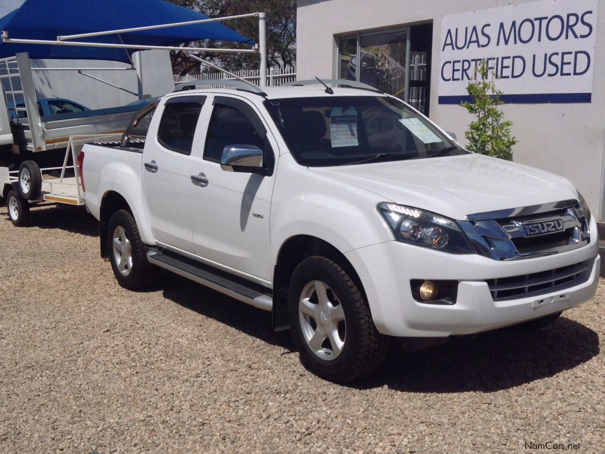
[(573, 369), (599, 353), (598, 334), (560, 317), (532, 334), (506, 329), (405, 353), (393, 348), (384, 369), (352, 384), (356, 389), (388, 386), (403, 392), (494, 392)]

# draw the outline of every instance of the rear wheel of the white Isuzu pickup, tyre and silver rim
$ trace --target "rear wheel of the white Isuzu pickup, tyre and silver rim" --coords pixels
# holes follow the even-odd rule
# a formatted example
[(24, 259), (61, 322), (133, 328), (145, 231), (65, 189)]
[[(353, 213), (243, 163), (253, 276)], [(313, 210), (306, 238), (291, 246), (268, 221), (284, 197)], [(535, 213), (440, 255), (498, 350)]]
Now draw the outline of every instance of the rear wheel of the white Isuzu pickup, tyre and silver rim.
[(151, 286), (155, 268), (148, 262), (137, 223), (125, 209), (116, 211), (108, 226), (111, 269), (125, 289), (140, 291)]

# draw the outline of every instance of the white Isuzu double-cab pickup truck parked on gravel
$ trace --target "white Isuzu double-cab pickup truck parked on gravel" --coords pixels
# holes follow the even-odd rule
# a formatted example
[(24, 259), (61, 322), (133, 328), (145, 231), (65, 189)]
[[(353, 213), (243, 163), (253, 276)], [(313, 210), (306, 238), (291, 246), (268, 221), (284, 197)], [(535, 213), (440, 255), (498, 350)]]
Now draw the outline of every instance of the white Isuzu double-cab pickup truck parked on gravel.
[(121, 143), (83, 147), (120, 285), (159, 266), (272, 311), (339, 382), (393, 337), (537, 329), (593, 297), (597, 223), (572, 183), (469, 153), (367, 85), (310, 82), (184, 84)]

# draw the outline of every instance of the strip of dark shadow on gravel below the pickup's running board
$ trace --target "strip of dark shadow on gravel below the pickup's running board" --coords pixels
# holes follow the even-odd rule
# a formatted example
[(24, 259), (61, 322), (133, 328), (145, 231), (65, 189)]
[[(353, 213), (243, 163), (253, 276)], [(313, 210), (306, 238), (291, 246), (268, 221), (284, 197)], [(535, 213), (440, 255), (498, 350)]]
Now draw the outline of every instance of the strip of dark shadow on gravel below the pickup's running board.
[(295, 352), (289, 331), (275, 332), (271, 329), (271, 313), (253, 308), (212, 289), (188, 279), (164, 272), (161, 282), (163, 295), (184, 308), (214, 318), (237, 331), (256, 337), (267, 344)]

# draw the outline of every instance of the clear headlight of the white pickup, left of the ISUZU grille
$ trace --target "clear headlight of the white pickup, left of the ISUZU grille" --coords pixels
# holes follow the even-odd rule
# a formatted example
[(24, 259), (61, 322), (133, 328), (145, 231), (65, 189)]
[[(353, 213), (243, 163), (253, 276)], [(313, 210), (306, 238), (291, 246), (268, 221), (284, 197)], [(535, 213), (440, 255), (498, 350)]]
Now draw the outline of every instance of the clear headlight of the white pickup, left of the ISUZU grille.
[(381, 203), (378, 210), (398, 241), (450, 254), (473, 254), (466, 235), (453, 219), (394, 203)]

